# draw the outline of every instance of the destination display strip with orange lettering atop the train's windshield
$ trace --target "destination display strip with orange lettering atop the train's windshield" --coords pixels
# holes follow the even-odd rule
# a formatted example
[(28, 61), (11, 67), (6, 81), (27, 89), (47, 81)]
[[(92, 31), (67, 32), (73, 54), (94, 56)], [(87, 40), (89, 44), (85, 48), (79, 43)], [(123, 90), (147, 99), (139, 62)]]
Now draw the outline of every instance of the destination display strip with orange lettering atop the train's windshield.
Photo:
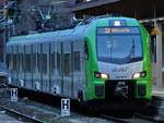
[(140, 34), (139, 27), (98, 27), (97, 34)]

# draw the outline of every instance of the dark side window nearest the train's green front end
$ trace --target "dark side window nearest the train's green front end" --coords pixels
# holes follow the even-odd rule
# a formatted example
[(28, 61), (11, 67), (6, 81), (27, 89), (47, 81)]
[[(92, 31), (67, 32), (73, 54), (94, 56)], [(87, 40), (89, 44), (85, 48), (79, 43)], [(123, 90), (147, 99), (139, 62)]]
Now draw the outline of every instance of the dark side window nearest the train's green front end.
[(74, 51), (73, 52), (73, 57), (74, 57), (74, 70), (80, 71), (80, 51)]

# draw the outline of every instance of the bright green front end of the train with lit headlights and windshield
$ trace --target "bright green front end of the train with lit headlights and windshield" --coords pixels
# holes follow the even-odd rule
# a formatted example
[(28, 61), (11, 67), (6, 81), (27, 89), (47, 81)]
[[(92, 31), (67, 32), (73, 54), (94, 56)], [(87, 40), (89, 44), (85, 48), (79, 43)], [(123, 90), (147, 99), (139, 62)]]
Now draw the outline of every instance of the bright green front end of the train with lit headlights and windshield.
[(86, 100), (151, 99), (150, 37), (134, 19), (105, 17), (85, 39)]

